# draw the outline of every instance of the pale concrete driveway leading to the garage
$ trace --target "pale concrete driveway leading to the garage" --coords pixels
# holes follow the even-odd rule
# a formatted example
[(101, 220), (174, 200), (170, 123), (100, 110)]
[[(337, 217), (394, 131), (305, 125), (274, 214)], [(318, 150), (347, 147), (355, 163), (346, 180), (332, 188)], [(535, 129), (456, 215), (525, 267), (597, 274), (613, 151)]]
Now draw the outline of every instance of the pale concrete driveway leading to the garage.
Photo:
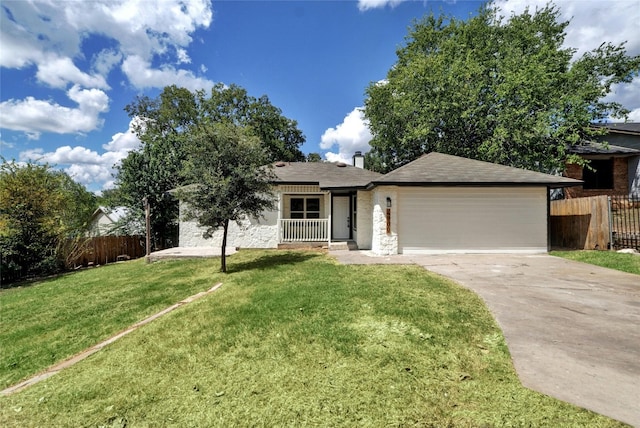
[(374, 257), (415, 263), (475, 291), (524, 386), (640, 427), (640, 276), (549, 255)]

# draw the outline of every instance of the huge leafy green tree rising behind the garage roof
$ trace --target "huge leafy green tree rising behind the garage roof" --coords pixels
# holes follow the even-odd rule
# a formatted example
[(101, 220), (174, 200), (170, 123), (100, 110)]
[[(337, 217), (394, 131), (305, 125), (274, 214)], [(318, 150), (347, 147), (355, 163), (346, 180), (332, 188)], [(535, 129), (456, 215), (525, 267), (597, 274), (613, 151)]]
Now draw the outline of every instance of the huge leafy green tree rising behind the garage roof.
[(430, 151), (545, 172), (578, 161), (567, 148), (599, 132), (590, 123), (628, 113), (604, 97), (637, 76), (640, 57), (603, 43), (574, 59), (567, 25), (553, 5), (415, 23), (387, 78), (367, 88), (368, 164), (386, 172)]

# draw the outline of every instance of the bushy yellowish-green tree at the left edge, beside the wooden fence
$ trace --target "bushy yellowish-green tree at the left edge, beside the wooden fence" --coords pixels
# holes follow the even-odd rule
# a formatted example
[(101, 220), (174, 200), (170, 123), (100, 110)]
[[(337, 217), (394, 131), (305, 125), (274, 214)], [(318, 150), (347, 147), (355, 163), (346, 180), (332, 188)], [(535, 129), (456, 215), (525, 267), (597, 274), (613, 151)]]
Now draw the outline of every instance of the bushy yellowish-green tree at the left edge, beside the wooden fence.
[(0, 164), (2, 280), (64, 268), (65, 245), (86, 231), (95, 196), (49, 165)]

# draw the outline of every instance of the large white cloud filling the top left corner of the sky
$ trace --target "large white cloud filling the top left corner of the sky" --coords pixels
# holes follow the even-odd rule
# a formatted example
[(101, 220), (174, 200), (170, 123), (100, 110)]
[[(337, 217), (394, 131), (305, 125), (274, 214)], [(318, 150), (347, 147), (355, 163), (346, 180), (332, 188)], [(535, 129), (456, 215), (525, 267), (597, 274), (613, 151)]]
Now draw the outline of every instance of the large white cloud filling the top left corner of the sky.
[(30, 47), (11, 49), (17, 57), (3, 52), (0, 64), (6, 67), (33, 62), (44, 52), (74, 58), (90, 34), (116, 41), (125, 54), (150, 59), (168, 47), (188, 46), (191, 33), (213, 18), (210, 0), (31, 0), (3, 7), (3, 48)]

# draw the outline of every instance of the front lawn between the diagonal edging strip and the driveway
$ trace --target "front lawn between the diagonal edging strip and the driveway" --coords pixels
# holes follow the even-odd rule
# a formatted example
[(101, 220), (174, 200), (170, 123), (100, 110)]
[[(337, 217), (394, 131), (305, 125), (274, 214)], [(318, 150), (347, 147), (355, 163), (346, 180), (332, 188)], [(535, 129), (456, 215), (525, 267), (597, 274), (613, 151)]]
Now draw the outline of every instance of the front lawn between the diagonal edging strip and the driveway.
[(215, 293), (0, 398), (0, 425), (621, 426), (523, 388), (481, 300), (422, 268), (241, 251), (229, 270), (210, 275)]

